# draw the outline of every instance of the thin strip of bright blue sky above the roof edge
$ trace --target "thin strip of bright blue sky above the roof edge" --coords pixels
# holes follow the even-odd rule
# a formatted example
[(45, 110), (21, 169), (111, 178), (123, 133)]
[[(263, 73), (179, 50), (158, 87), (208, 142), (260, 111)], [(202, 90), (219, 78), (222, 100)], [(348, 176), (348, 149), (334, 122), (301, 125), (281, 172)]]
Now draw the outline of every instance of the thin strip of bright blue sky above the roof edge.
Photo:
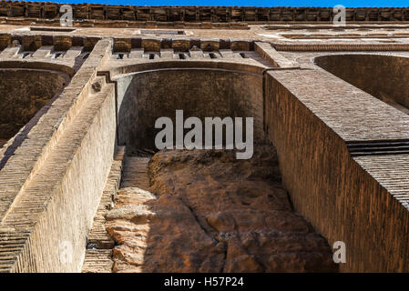
[(57, 3), (97, 3), (110, 5), (196, 5), (196, 6), (322, 6), (333, 7), (334, 5), (344, 5), (347, 7), (406, 7), (409, 0), (36, 0), (40, 2)]

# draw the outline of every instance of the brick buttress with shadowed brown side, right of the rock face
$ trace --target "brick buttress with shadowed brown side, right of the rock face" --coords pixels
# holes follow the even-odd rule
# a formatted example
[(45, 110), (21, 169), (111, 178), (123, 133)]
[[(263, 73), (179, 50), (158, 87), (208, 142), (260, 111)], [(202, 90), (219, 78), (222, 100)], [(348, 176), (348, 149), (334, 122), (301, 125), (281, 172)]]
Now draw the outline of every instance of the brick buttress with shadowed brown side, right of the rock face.
[(340, 269), (407, 272), (409, 208), (398, 195), (408, 193), (409, 157), (353, 157), (347, 147), (407, 138), (407, 115), (317, 70), (269, 72), (267, 86), (267, 135), (283, 184), (331, 246), (346, 244)]

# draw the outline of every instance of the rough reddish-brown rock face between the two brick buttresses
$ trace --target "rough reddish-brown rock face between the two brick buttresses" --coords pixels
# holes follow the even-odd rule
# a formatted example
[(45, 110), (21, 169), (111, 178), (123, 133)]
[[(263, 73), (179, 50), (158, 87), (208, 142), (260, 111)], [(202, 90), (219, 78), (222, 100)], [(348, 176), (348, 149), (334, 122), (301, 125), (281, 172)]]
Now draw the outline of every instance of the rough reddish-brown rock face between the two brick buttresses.
[(326, 241), (292, 211), (271, 146), (250, 160), (160, 151), (148, 173), (150, 193), (120, 189), (106, 216), (114, 272), (336, 270)]

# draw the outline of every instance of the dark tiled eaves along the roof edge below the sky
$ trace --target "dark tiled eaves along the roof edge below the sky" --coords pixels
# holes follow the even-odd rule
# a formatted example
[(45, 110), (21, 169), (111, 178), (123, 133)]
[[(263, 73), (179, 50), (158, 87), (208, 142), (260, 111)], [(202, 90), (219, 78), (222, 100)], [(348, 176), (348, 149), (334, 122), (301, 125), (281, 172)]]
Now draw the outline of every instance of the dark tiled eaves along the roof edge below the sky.
[[(14, 1), (0, 5), (0, 16), (58, 18), (56, 3)], [(139, 22), (197, 22), (204, 24), (226, 22), (301, 21), (328, 22), (336, 15), (329, 7), (246, 7), (246, 6), (137, 6), (137, 5), (73, 5), (75, 20), (129, 20)], [(407, 7), (349, 8), (347, 21), (404, 21), (408, 20)], [(104, 24), (100, 22), (98, 24)]]

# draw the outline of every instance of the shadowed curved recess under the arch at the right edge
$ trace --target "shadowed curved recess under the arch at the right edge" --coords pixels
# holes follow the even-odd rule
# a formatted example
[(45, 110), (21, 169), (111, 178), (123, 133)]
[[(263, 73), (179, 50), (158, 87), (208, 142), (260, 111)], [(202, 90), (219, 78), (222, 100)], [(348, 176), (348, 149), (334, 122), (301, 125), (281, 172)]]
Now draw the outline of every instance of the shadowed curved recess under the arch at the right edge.
[(315, 64), (409, 114), (409, 57), (322, 55)]

